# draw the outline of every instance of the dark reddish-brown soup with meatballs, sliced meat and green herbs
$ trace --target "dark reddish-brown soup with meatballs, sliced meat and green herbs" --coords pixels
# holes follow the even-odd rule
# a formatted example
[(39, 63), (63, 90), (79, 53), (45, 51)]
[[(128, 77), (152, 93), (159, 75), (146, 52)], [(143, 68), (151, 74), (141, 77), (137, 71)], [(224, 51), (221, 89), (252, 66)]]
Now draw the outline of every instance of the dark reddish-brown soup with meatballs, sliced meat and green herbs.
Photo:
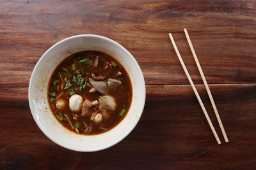
[(131, 105), (125, 68), (106, 53), (77, 52), (54, 70), (48, 101), (54, 117), (79, 134), (101, 134), (119, 124)]

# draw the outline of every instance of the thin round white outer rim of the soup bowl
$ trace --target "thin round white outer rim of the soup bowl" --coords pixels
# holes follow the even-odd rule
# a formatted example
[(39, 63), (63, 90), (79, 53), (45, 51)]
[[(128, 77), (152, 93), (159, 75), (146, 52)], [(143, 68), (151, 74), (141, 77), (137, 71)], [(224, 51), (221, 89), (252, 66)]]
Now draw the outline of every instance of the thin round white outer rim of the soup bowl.
[[(33, 85), (33, 77), (35, 77), (35, 72), (36, 72), (36, 69), (38, 69), (40, 63), (42, 62), (43, 58), (47, 55), (47, 53), (49, 53), (53, 48), (55, 48), (56, 46), (60, 45), (61, 43), (63, 43), (64, 41), (68, 41), (70, 39), (76, 39), (76, 38), (81, 38), (81, 37), (90, 37), (90, 38), (100, 38), (100, 39), (104, 39), (106, 41), (110, 41), (111, 43), (113, 43), (114, 45), (118, 46), (118, 48), (124, 50), (126, 53), (128, 53), (129, 55), (129, 58), (131, 60), (133, 60), (134, 64), (136, 65), (136, 67), (138, 67), (138, 69), (140, 70), (139, 71), (139, 74), (141, 74), (141, 78), (142, 78), (142, 81), (143, 81), (143, 84), (140, 84), (140, 86), (143, 88), (143, 94), (141, 94), (141, 97), (142, 97), (142, 100), (143, 100), (143, 106), (140, 107), (140, 110), (138, 110), (138, 117), (136, 118), (136, 121), (134, 121), (134, 124), (132, 124), (132, 126), (129, 128), (129, 131), (127, 131), (125, 134), (123, 134), (123, 136), (120, 136), (120, 138), (118, 138), (117, 140), (113, 141), (112, 143), (110, 143), (109, 145), (106, 145), (106, 146), (102, 146), (102, 147), (99, 147), (99, 148), (93, 148), (93, 149), (84, 149), (84, 148), (81, 148), (80, 150), (79, 149), (76, 149), (76, 148), (72, 148), (68, 145), (64, 145), (63, 143), (59, 143), (58, 142), (58, 139), (56, 138), (53, 138), (50, 134), (47, 133), (47, 131), (45, 131), (45, 129), (43, 128), (43, 126), (40, 124), (40, 122), (38, 122), (38, 120), (36, 119), (36, 115), (35, 115), (35, 111), (32, 111), (31, 108), (33, 107), (33, 97), (32, 97), (32, 90), (31, 90), (31, 87)], [(133, 92), (133, 90), (132, 90)], [(77, 151), (77, 152), (96, 152), (96, 151), (99, 151), (99, 150), (104, 150), (106, 148), (109, 148), (113, 145), (116, 145), (116, 143), (119, 143), (120, 141), (122, 141), (122, 139), (124, 139), (128, 134), (131, 133), (131, 131), (136, 127), (136, 125), (138, 124), (138, 122), (140, 121), (140, 118), (141, 118), (141, 115), (143, 113), (143, 110), (144, 110), (144, 106), (145, 106), (145, 99), (146, 99), (146, 87), (145, 87), (145, 79), (144, 79), (144, 76), (143, 76), (143, 73), (141, 71), (141, 68), (138, 64), (138, 62), (136, 61), (136, 59), (132, 56), (132, 54), (126, 50), (126, 48), (124, 48), (124, 46), (120, 45), (119, 43), (117, 43), (116, 41), (114, 41), (113, 39), (109, 39), (109, 38), (106, 38), (104, 36), (99, 36), (99, 35), (95, 35), (95, 34), (79, 34), (79, 35), (76, 35), (76, 36), (70, 36), (68, 38), (65, 38), (65, 39), (62, 39), (61, 41), (58, 41), (57, 43), (55, 43), (54, 45), (52, 45), (46, 52), (44, 52), (44, 54), (40, 57), (40, 59), (36, 62), (36, 65), (33, 69), (33, 72), (31, 74), (31, 77), (30, 77), (30, 80), (29, 80), (29, 88), (28, 88), (28, 100), (29, 100), (29, 109), (31, 111), (31, 115), (33, 116), (33, 119), (34, 121), (36, 122), (36, 125), (39, 127), (39, 129), (45, 134), (45, 136), (47, 136), (47, 138), (51, 139), (51, 141), (53, 141), (54, 143), (56, 143), (57, 145), (59, 146), (62, 146), (63, 148), (67, 148), (69, 150), (74, 150), (74, 151)], [(115, 128), (115, 127), (114, 127)], [(111, 130), (110, 130), (111, 131)]]

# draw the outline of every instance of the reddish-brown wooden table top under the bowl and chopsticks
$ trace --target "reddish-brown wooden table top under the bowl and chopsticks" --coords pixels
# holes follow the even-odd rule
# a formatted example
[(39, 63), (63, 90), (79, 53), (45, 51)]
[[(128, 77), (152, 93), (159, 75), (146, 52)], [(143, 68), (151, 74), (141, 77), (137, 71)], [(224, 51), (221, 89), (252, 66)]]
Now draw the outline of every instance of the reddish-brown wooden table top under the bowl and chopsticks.
[[(183, 28), (188, 29), (226, 129), (225, 143)], [(170, 43), (173, 33), (220, 136), (204, 114)], [(37, 127), (28, 84), (61, 39), (98, 34), (141, 66), (147, 99), (136, 128), (93, 153), (56, 145)], [(1, 1), (0, 169), (255, 169), (255, 1)]]

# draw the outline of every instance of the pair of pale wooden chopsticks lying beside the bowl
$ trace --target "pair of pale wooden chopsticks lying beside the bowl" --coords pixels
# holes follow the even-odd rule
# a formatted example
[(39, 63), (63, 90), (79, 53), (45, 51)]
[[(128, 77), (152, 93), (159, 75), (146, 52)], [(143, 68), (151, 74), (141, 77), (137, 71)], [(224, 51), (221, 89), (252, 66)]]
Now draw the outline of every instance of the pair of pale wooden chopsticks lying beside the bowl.
[[(213, 98), (212, 98), (211, 91), (210, 91), (209, 86), (208, 86), (208, 84), (207, 84), (207, 81), (206, 81), (206, 79), (205, 79), (205, 76), (204, 76), (204, 73), (203, 73), (202, 68), (201, 68), (201, 66), (200, 66), (200, 63), (199, 63), (199, 61), (198, 61), (198, 59), (197, 59), (197, 56), (196, 56), (194, 47), (193, 47), (193, 45), (192, 45), (192, 43), (191, 43), (191, 40), (190, 40), (190, 38), (189, 38), (189, 34), (188, 34), (187, 29), (184, 29), (184, 32), (185, 32), (186, 38), (187, 38), (187, 40), (188, 40), (188, 44), (189, 44), (189, 47), (190, 47), (191, 52), (192, 52), (192, 54), (193, 54), (193, 57), (194, 57), (194, 59), (195, 59), (196, 66), (198, 67), (199, 72), (200, 72), (200, 75), (201, 75), (201, 77), (202, 77), (202, 80), (204, 81), (204, 85), (205, 85), (205, 88), (206, 88), (206, 90), (207, 90), (207, 94), (208, 94), (208, 96), (209, 96), (209, 98), (210, 98), (210, 100), (211, 100), (212, 108), (213, 108), (213, 110), (214, 110), (214, 113), (215, 113), (216, 118), (217, 118), (217, 120), (218, 120), (218, 123), (219, 123), (219, 125), (220, 125), (221, 132), (222, 132), (222, 134), (223, 134), (223, 136), (224, 136), (225, 142), (228, 142), (227, 134), (226, 134), (225, 129), (224, 129), (223, 125), (222, 125), (222, 122), (221, 122), (221, 119), (220, 119), (220, 115), (219, 115), (219, 113), (218, 113), (218, 110), (217, 110), (216, 105), (215, 105), (215, 103), (214, 103), (214, 100), (213, 100)], [(191, 79), (191, 77), (190, 77), (190, 75), (189, 75), (189, 73), (188, 73), (188, 70), (187, 70), (187, 68), (186, 68), (186, 66), (185, 66), (185, 64), (184, 64), (184, 62), (183, 62), (183, 60), (182, 60), (182, 57), (180, 56), (179, 50), (178, 50), (178, 48), (177, 48), (177, 46), (176, 46), (176, 44), (175, 44), (175, 41), (174, 41), (174, 39), (173, 39), (173, 37), (172, 37), (172, 34), (169, 33), (169, 36), (170, 36), (170, 39), (171, 39), (171, 41), (172, 41), (172, 45), (173, 45), (173, 47), (174, 47), (174, 49), (175, 49), (175, 52), (177, 53), (178, 58), (179, 58), (179, 60), (180, 60), (180, 64), (181, 64), (181, 66), (183, 67), (183, 69), (184, 69), (184, 71), (185, 71), (185, 73), (186, 73), (186, 76), (188, 77), (189, 83), (191, 84), (191, 87), (192, 87), (193, 91), (195, 92), (196, 98), (198, 99), (198, 102), (199, 102), (199, 104), (200, 104), (202, 110), (204, 111), (204, 115), (205, 115), (205, 117), (206, 117), (206, 119), (207, 119), (208, 124), (209, 124), (210, 127), (211, 127), (212, 133), (214, 134), (214, 137), (216, 138), (216, 141), (217, 141), (218, 144), (220, 145), (221, 142), (220, 142), (220, 139), (219, 139), (219, 137), (218, 137), (218, 134), (216, 133), (216, 131), (215, 131), (213, 125), (212, 125), (211, 119), (209, 118), (209, 115), (208, 115), (207, 111), (205, 110), (204, 104), (202, 103), (202, 100), (201, 100), (201, 98), (200, 98), (200, 96), (199, 96), (199, 94), (198, 94), (198, 92), (197, 92), (197, 90), (196, 90), (196, 87), (195, 87), (195, 85), (194, 85), (194, 83), (193, 83), (193, 81), (192, 81), (192, 79)]]

